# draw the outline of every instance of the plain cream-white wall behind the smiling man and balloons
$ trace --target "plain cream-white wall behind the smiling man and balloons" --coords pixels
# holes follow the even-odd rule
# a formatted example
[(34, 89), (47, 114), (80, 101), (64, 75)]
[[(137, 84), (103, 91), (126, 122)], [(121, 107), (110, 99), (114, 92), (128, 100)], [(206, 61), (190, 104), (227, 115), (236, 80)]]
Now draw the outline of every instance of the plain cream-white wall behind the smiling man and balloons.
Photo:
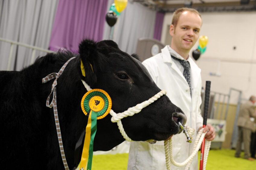
[[(211, 90), (216, 92), (229, 93), (232, 87), (242, 90), (243, 98), (256, 95), (256, 12), (201, 13), (201, 16), (200, 35), (209, 39), (206, 52), (196, 61), (202, 70), (203, 86), (210, 80)], [(166, 34), (171, 18), (172, 13), (165, 14), (162, 43), (170, 36)], [(192, 50), (197, 46), (198, 42)], [(210, 76), (210, 72), (221, 76)]]

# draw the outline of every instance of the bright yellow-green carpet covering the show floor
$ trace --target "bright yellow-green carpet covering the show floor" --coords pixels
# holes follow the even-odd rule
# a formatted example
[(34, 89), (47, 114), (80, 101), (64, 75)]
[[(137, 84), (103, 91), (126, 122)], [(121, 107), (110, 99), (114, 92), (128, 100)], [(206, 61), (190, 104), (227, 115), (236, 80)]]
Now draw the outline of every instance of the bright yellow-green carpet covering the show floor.
[[(235, 150), (210, 150), (207, 170), (256, 170), (256, 160), (235, 158)], [(241, 154), (241, 157), (243, 153)], [(199, 158), (199, 157), (198, 157)], [(95, 155), (93, 170), (126, 170), (128, 154)]]

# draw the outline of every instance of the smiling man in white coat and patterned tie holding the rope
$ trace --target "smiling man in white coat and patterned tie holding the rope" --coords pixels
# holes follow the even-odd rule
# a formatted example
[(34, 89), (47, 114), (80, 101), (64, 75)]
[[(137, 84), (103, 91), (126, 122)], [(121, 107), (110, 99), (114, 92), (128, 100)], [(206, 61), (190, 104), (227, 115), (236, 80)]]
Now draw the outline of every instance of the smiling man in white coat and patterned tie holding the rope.
[[(176, 10), (170, 26), (171, 46), (165, 46), (161, 53), (143, 61), (156, 85), (166, 90), (171, 102), (185, 113), (186, 125), (196, 131), (200, 130), (203, 124), (200, 114), (201, 71), (189, 57), (189, 52), (199, 37), (201, 25), (202, 20), (198, 11), (191, 8)], [(187, 65), (182, 65), (184, 62)], [(210, 124), (206, 125), (204, 131), (208, 131), (205, 136), (207, 140), (214, 139), (215, 131)], [(196, 133), (193, 135), (194, 139), (196, 135)], [(186, 141), (183, 133), (172, 137), (173, 156), (177, 162), (183, 162), (193, 152), (193, 142)], [(127, 169), (166, 169), (164, 142), (157, 141), (155, 144), (132, 142)], [(171, 165), (171, 169), (184, 169), (184, 167)], [(190, 169), (198, 169), (197, 156)]]

